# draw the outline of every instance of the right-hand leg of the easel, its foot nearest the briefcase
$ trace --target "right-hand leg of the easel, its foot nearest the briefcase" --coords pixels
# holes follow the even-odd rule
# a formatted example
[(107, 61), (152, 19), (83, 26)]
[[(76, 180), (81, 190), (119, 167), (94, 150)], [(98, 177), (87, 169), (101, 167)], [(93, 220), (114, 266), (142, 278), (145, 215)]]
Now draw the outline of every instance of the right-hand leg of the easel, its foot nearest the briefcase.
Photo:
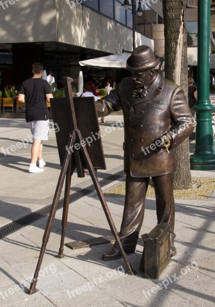
[[(78, 136), (78, 139), (79, 139), (79, 142), (80, 142), (82, 140), (82, 135), (80, 134), (79, 130), (76, 130), (76, 131), (77, 131), (77, 136)], [(127, 255), (125, 254), (125, 251), (124, 251), (124, 249), (122, 247), (122, 243), (120, 241), (117, 229), (115, 227), (115, 224), (114, 224), (111, 212), (109, 210), (109, 207), (107, 206), (107, 203), (106, 203), (106, 200), (104, 198), (103, 191), (102, 191), (102, 189), (100, 187), (100, 184), (99, 184), (96, 172), (95, 172), (95, 170), (93, 168), (93, 164), (92, 164), (92, 162), (90, 160), (89, 153), (88, 153), (86, 147), (81, 147), (81, 150), (82, 150), (82, 154), (83, 154), (84, 160), (85, 160), (85, 162), (86, 162), (86, 164), (88, 166), (88, 169), (89, 169), (89, 172), (90, 172), (90, 176), (92, 178), (93, 184), (94, 184), (95, 189), (97, 191), (97, 194), (98, 194), (99, 200), (101, 202), (102, 208), (103, 208), (104, 213), (106, 215), (107, 222), (109, 223), (111, 231), (112, 231), (112, 233), (113, 233), (113, 235), (115, 237), (116, 242), (118, 243), (120, 252), (121, 252), (122, 257), (123, 257), (123, 259), (125, 261), (125, 266), (126, 266), (126, 269), (127, 269), (127, 274), (134, 275), (135, 273), (133, 272), (133, 270), (131, 268), (131, 265), (130, 265), (130, 262), (128, 261)]]

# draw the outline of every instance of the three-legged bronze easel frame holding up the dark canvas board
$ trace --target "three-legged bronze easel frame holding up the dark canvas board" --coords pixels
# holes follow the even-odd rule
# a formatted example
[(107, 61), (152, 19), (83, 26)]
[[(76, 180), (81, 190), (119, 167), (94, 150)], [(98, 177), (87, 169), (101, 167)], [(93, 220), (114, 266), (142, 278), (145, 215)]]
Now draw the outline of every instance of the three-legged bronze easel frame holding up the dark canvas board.
[[(70, 77), (65, 77), (63, 78), (64, 80), (64, 88), (65, 88), (65, 94), (66, 94), (66, 99), (67, 101), (70, 102), (70, 107), (71, 107), (71, 124), (72, 124), (72, 129), (71, 133), (69, 135), (69, 141), (68, 141), (68, 147), (67, 148), (72, 148), (75, 142), (80, 143), (83, 140), (82, 134), (80, 133), (80, 130), (77, 127), (77, 121), (76, 121), (76, 115), (75, 115), (75, 109), (74, 109), (74, 103), (73, 103), (73, 97), (72, 97), (72, 88), (71, 88), (71, 81), (72, 79)], [(110, 210), (106, 204), (102, 189), (100, 187), (96, 172), (94, 170), (92, 161), (90, 159), (89, 153), (87, 151), (87, 148), (85, 146), (80, 147), (80, 150), (82, 152), (82, 158), (84, 162), (86, 163), (90, 176), (92, 178), (93, 184), (95, 186), (96, 192), (98, 194), (99, 200), (101, 202), (102, 208), (104, 210), (104, 213), (106, 215), (107, 222), (109, 223), (109, 226), (111, 228), (112, 234), (115, 237), (115, 240), (119, 246), (120, 252), (122, 254), (122, 257), (125, 261), (125, 266), (127, 269), (127, 274), (129, 275), (134, 275), (131, 265), (127, 259), (127, 256), (125, 254), (125, 251), (122, 247), (122, 244), (120, 242), (120, 238), (117, 232), (117, 229), (115, 227), (113, 218), (111, 216)], [(84, 177), (84, 168), (83, 168), (83, 163), (82, 163), (82, 158), (80, 157), (79, 151), (75, 150), (74, 153), (70, 152), (69, 150), (65, 153), (65, 157), (63, 160), (62, 168), (61, 168), (61, 173), (59, 176), (57, 188), (55, 191), (55, 195), (53, 198), (50, 214), (48, 217), (48, 221), (46, 224), (46, 228), (44, 231), (43, 239), (42, 239), (42, 246), (40, 250), (40, 256), (37, 262), (37, 267), (35, 270), (34, 278), (31, 283), (30, 289), (28, 290), (28, 294), (33, 294), (36, 292), (36, 284), (38, 280), (38, 275), (40, 271), (40, 267), (42, 264), (43, 256), (45, 253), (46, 245), (48, 243), (48, 239), (50, 236), (51, 228), (53, 225), (53, 221), (55, 219), (58, 203), (60, 200), (60, 195), (61, 191), (63, 188), (64, 180), (66, 178), (65, 182), (65, 193), (64, 193), (64, 206), (63, 206), (63, 216), (62, 216), (62, 234), (61, 234), (61, 244), (60, 244), (60, 249), (59, 249), (59, 254), (58, 257), (62, 258), (64, 257), (64, 239), (65, 239), (65, 231), (66, 231), (66, 225), (67, 225), (67, 216), (68, 216), (68, 208), (69, 208), (69, 193), (70, 193), (70, 185), (71, 185), (71, 176), (73, 174), (74, 168), (72, 167), (72, 159), (75, 159), (76, 163), (76, 168), (77, 168), (77, 174), (79, 177)]]

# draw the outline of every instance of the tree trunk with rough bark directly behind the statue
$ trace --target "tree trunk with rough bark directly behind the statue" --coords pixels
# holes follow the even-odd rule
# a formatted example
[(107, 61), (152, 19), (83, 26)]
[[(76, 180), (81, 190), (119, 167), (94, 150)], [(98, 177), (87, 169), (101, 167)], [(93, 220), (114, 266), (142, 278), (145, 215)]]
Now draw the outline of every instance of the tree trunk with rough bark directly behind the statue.
[[(163, 0), (165, 78), (181, 85), (187, 98), (186, 1)], [(175, 149), (174, 189), (192, 188), (189, 139)]]

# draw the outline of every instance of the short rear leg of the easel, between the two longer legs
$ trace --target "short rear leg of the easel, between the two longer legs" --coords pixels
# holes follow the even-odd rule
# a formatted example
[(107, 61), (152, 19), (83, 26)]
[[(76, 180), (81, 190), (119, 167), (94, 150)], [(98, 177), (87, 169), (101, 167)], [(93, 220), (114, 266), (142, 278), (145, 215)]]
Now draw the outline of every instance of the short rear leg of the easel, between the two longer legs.
[(60, 248), (59, 248), (59, 253), (57, 255), (58, 258), (64, 257), (64, 239), (65, 239), (68, 209), (69, 209), (69, 194), (70, 194), (70, 186), (71, 186), (71, 176), (74, 172), (74, 169), (71, 170), (71, 160), (72, 159), (70, 159), (68, 169), (67, 169), (67, 172), (66, 172), (66, 183), (65, 183), (65, 192), (64, 192), (64, 207), (63, 207), (63, 217), (62, 217), (61, 245), (60, 245)]

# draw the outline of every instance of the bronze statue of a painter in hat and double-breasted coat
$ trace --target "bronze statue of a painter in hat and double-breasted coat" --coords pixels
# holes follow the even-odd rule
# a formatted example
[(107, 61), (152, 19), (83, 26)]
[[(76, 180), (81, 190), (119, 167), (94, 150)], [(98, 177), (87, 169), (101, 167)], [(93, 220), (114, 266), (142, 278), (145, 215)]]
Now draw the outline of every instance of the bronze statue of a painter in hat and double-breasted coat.
[[(158, 57), (148, 46), (137, 47), (126, 62), (131, 77), (124, 78), (110, 95), (95, 103), (99, 117), (123, 111), (126, 192), (119, 237), (125, 252), (135, 252), (151, 177), (157, 223), (170, 226), (174, 256), (174, 148), (192, 133), (194, 120), (182, 88), (155, 71), (158, 63)], [(120, 257), (116, 243), (102, 255), (103, 260)]]

